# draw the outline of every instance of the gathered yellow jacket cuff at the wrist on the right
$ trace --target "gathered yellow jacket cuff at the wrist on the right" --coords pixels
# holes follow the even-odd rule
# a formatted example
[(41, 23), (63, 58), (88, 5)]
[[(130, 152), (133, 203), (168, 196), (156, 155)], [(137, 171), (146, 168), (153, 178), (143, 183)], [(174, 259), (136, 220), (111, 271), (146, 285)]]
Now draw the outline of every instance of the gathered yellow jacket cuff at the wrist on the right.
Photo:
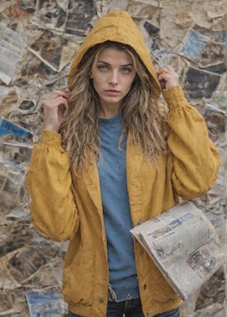
[(187, 100), (184, 97), (184, 91), (179, 85), (164, 89), (162, 91), (162, 95), (164, 96), (170, 110), (182, 108), (182, 106), (187, 103)]

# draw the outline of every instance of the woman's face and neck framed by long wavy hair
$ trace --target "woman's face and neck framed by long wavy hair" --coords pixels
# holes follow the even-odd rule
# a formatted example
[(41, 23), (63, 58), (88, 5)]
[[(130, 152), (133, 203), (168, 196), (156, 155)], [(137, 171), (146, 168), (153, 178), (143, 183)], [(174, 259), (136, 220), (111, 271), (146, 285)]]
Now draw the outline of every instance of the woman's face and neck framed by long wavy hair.
[(93, 66), (91, 78), (99, 95), (102, 115), (114, 116), (135, 78), (133, 60), (124, 50), (104, 48)]

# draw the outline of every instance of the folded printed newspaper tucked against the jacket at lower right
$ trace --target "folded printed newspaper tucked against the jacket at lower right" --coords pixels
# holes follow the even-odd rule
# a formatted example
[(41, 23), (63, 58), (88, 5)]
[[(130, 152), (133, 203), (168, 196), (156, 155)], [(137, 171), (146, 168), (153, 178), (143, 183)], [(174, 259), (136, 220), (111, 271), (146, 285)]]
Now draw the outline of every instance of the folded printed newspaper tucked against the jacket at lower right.
[(190, 201), (141, 223), (131, 233), (182, 301), (223, 264), (214, 226)]

